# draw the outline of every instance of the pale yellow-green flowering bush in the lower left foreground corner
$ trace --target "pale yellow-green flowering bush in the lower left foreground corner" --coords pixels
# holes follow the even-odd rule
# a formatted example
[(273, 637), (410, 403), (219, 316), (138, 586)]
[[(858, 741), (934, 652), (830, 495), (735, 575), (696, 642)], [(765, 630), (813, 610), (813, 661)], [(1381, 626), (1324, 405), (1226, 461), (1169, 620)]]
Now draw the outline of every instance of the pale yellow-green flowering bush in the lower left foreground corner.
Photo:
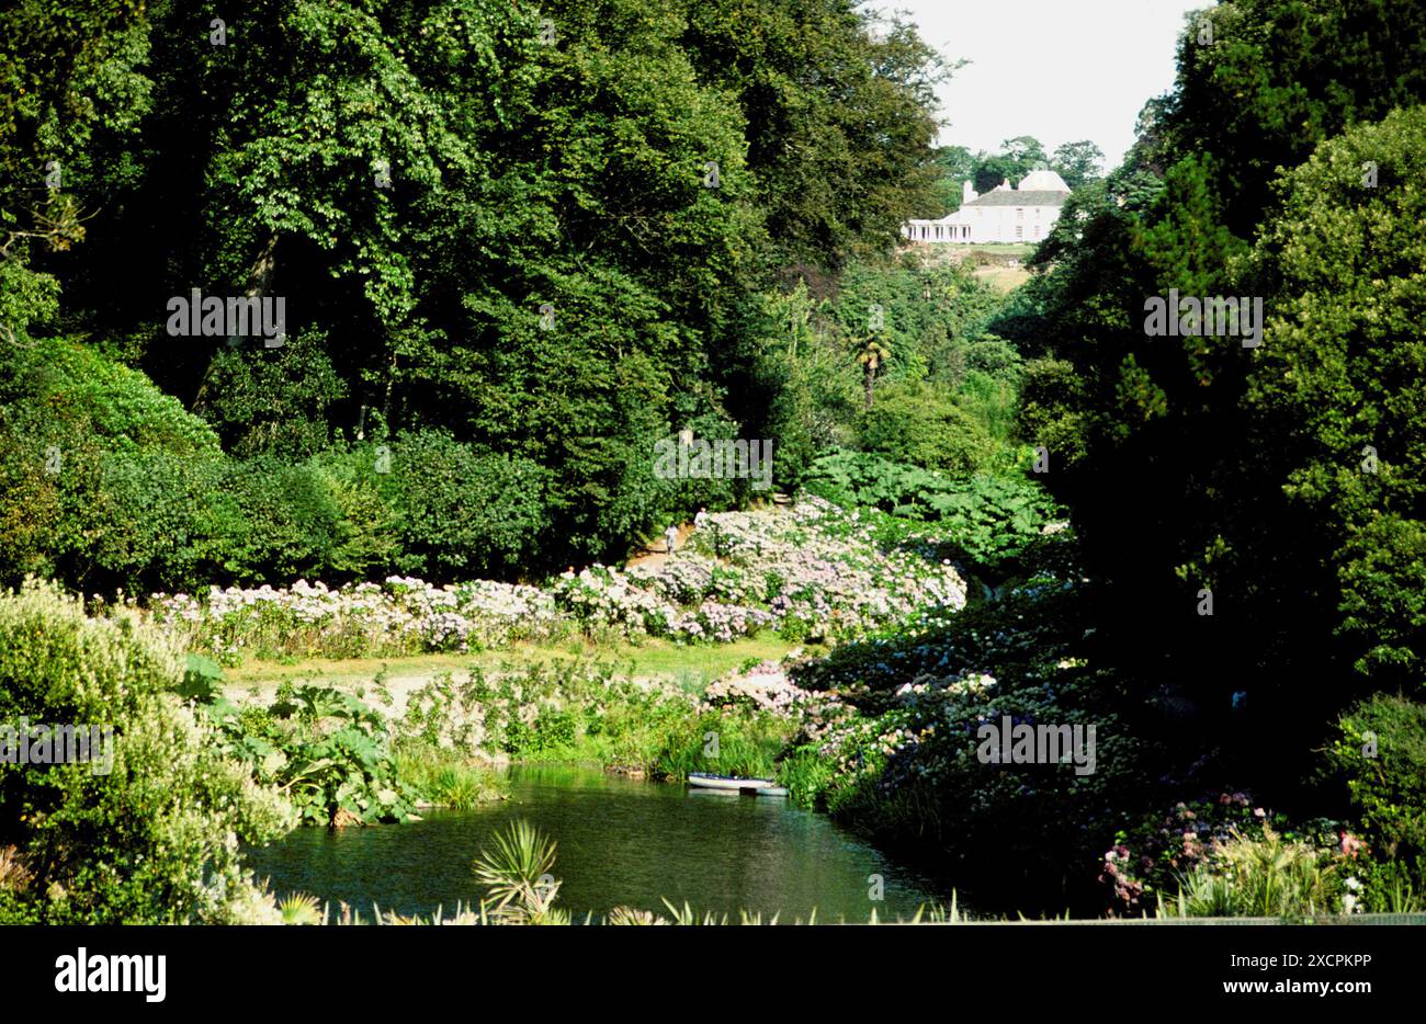
[(0, 914), (51, 924), (267, 920), (238, 843), (292, 824), (173, 690), (183, 667), (123, 609), (86, 618), (53, 585), (0, 598), (0, 723), (114, 729), (113, 764), (0, 760), (0, 849), (30, 877)]

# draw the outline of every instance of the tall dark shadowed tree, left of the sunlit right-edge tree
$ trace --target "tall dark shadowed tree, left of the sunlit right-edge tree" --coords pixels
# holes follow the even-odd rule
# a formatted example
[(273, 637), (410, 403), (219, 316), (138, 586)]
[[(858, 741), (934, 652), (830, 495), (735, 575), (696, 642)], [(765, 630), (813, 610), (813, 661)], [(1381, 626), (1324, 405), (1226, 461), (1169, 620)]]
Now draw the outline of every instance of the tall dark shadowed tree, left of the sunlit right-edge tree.
[[(1426, 98), (1426, 11), (1376, 0), (1233, 0), (1206, 13), (1212, 44), (1199, 41), (1202, 16), (1186, 19), (1175, 88), (1145, 107), (1125, 164), (1077, 194), (1041, 247), (1054, 270), (1032, 285), (1040, 317), (1030, 329), (1058, 358), (1030, 371), (1034, 415), (1022, 426), (1060, 429), (1061, 462), (1047, 482), (1074, 505), (1102, 583), (1105, 655), (1145, 686), (1179, 685), (1205, 709), (1226, 707), (1236, 690), (1258, 695), (1259, 709), (1281, 716), (1259, 767), (1291, 777), (1301, 764), (1285, 752), (1301, 753), (1302, 734), (1350, 693), (1342, 673), (1353, 662), (1405, 665), (1415, 613), (1409, 605), (1380, 619), (1355, 612), (1375, 623), (1355, 642), (1386, 643), (1366, 660), (1343, 646), (1333, 595), (1345, 579), (1333, 576), (1359, 573), (1359, 596), (1343, 608), (1366, 600), (1369, 579), (1387, 583), (1368, 570), (1375, 542), (1365, 528), (1352, 535), (1356, 559), (1323, 560), (1348, 535), (1325, 506), (1283, 499), (1281, 485), (1302, 458), (1289, 452), (1313, 442), (1281, 406), (1245, 404), (1272, 359), (1272, 331), (1258, 349), (1233, 337), (1151, 337), (1145, 301), (1169, 290), (1258, 295), (1269, 319), (1281, 314), (1252, 258), (1255, 238), (1282, 215), (1275, 175), (1352, 126)], [(1348, 391), (1319, 396), (1323, 416), (1352, 419)], [(1406, 406), (1379, 408), (1409, 422)], [(1259, 435), (1272, 441), (1253, 444)], [(1390, 522), (1378, 529), (1407, 558), (1410, 528)], [(1390, 586), (1410, 578), (1403, 572)], [(1211, 616), (1199, 613), (1204, 590)]]

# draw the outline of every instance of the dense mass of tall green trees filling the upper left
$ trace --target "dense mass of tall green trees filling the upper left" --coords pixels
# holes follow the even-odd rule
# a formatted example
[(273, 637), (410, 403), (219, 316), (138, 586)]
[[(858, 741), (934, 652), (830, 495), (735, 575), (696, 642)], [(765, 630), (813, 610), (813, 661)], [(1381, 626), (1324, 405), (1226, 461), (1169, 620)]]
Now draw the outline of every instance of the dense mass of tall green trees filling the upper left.
[[(529, 461), (550, 565), (652, 525), (652, 444), (727, 416), (779, 272), (884, 251), (937, 177), (947, 68), (851, 0), (70, 7), (3, 16), (7, 328), (242, 458), (429, 428)], [(193, 290), (281, 298), (284, 344), (171, 335)]]

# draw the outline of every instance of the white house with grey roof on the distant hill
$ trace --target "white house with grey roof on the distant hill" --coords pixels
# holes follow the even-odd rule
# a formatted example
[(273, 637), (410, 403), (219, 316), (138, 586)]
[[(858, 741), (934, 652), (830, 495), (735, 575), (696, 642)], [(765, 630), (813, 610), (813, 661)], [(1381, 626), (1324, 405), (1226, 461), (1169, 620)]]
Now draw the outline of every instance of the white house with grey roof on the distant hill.
[(1037, 242), (1060, 220), (1070, 185), (1054, 171), (1031, 171), (1015, 188), (1002, 181), (978, 195), (967, 181), (961, 208), (938, 221), (907, 221), (901, 237), (911, 242)]

